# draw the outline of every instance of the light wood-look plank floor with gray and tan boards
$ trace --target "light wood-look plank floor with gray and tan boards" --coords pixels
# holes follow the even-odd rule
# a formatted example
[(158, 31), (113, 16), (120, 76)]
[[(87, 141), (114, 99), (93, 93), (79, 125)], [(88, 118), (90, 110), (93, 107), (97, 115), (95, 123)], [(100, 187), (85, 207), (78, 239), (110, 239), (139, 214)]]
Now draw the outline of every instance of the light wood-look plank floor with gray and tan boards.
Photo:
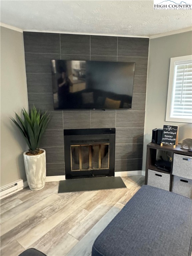
[(1, 200), (1, 256), (36, 248), (48, 256), (90, 256), (96, 237), (144, 184), (122, 177), (127, 188), (58, 194), (59, 182), (29, 187)]

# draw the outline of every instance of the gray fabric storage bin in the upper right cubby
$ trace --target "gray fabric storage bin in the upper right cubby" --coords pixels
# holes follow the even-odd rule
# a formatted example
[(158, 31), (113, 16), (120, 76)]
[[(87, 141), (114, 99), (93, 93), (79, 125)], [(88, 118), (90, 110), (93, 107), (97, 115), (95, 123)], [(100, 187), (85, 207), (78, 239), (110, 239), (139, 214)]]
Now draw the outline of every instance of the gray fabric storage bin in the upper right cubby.
[(192, 157), (174, 154), (172, 174), (192, 180)]

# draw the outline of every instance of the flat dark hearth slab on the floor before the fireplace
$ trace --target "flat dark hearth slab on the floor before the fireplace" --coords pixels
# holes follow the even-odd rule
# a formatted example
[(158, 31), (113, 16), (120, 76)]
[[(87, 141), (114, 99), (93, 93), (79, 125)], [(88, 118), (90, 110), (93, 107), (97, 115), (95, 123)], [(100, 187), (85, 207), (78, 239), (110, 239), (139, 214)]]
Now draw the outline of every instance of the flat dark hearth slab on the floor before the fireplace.
[(126, 188), (121, 177), (94, 177), (84, 179), (69, 179), (59, 182), (58, 193), (91, 191), (101, 189)]

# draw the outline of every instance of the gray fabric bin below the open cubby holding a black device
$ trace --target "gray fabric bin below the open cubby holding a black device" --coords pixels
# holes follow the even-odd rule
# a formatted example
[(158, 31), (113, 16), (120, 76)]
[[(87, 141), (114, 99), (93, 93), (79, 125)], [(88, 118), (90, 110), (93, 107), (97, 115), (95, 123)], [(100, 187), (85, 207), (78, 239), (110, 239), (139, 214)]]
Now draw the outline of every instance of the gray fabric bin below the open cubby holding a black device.
[(169, 191), (170, 174), (148, 169), (147, 185)]

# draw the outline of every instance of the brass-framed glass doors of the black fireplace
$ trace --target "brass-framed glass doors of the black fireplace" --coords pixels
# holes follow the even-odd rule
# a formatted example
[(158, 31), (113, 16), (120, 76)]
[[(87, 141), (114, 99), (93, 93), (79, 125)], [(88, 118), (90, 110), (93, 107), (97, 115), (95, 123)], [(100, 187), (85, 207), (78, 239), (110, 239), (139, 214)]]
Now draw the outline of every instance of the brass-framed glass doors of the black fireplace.
[(109, 144), (71, 145), (71, 171), (109, 169)]

